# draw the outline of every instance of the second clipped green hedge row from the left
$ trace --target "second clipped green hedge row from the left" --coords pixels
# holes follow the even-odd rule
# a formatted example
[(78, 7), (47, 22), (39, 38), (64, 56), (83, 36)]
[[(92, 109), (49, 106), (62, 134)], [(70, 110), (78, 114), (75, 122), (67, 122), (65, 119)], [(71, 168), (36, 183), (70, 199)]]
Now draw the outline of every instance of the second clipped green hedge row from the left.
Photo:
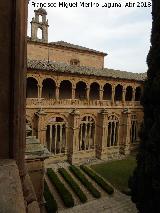
[(60, 181), (60, 179), (56, 175), (56, 173), (51, 168), (48, 168), (47, 175), (48, 175), (49, 179), (51, 180), (52, 184), (54, 184), (54, 186), (56, 187), (56, 190), (58, 191), (59, 195), (61, 196), (65, 206), (73, 207), (74, 200), (73, 200), (72, 194), (66, 189), (66, 187)]

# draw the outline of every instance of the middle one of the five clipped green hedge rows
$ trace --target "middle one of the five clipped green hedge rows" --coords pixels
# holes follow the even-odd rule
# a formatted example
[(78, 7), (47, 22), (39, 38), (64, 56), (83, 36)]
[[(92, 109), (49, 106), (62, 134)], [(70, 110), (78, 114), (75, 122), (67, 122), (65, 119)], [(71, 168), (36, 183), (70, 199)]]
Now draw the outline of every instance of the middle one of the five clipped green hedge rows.
[(87, 201), (87, 197), (83, 193), (83, 191), (80, 189), (78, 184), (71, 177), (71, 175), (64, 168), (59, 168), (58, 172), (62, 175), (62, 177), (65, 179), (65, 181), (70, 185), (70, 187), (73, 189), (75, 194), (79, 197), (80, 201), (82, 203), (85, 203)]

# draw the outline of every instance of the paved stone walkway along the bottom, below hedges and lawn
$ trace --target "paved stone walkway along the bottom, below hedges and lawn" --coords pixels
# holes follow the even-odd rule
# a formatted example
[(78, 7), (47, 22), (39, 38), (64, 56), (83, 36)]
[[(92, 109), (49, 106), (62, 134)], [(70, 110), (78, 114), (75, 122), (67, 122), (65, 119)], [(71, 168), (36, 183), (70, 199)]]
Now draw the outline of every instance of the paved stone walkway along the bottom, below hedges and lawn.
[(90, 201), (86, 204), (75, 206), (71, 209), (58, 211), (59, 213), (137, 213), (130, 197), (115, 191), (114, 196)]

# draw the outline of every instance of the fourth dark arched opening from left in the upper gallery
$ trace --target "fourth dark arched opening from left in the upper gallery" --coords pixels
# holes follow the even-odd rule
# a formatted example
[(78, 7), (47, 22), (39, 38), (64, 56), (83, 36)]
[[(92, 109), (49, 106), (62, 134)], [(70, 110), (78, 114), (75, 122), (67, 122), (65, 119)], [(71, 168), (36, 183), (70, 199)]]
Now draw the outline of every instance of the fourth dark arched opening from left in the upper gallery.
[(79, 81), (76, 84), (76, 98), (77, 99), (86, 99), (86, 90), (87, 90), (87, 86), (86, 83), (84, 83), (83, 81)]

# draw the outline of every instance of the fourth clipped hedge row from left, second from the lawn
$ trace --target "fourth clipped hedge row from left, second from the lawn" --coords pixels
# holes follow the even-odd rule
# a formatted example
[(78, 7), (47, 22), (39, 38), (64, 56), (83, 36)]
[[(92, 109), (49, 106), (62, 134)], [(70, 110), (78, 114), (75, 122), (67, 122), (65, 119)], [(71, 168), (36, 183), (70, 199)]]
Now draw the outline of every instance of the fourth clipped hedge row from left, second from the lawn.
[(83, 175), (83, 173), (80, 171), (79, 168), (76, 166), (70, 166), (69, 167), (71, 172), (81, 181), (81, 183), (88, 189), (88, 191), (91, 192), (91, 194), (95, 198), (100, 198), (101, 194), (100, 192), (92, 185), (91, 182), (88, 181), (88, 179)]

